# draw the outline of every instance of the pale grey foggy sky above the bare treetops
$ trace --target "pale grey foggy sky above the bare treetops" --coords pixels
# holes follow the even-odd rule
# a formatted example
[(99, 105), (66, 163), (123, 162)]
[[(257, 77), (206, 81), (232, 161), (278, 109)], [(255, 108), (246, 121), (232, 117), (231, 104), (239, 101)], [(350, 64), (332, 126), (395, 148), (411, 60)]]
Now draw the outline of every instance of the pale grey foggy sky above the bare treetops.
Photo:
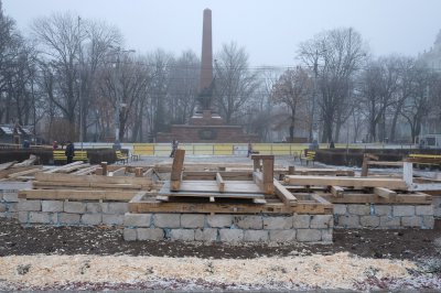
[(52, 12), (118, 26), (127, 48), (201, 53), (202, 14), (213, 11), (213, 48), (236, 42), (252, 66), (292, 66), (297, 46), (323, 30), (352, 26), (375, 55), (413, 55), (432, 46), (441, 29), (440, 0), (2, 0), (25, 33)]

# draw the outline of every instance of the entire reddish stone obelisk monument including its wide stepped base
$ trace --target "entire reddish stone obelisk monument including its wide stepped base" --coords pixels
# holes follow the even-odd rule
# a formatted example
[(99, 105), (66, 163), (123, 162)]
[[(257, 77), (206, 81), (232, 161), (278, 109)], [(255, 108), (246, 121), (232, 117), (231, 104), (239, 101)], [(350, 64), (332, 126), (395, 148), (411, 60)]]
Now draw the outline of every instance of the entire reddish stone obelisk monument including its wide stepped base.
[(212, 10), (205, 9), (202, 30), (202, 55), (200, 94), (197, 109), (189, 124), (173, 124), (171, 132), (157, 134), (157, 142), (248, 142), (258, 141), (257, 135), (246, 134), (240, 126), (227, 126), (224, 119), (213, 110), (215, 80), (213, 78)]

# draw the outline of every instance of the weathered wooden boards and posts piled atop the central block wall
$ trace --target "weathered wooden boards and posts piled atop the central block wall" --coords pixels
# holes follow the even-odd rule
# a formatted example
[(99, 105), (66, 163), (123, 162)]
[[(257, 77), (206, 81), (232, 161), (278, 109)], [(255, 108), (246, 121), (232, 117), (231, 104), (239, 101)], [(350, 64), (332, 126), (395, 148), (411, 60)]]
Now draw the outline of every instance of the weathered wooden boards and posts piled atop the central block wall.
[[(132, 213), (209, 214), (331, 214), (333, 206), (320, 196), (299, 200), (273, 177), (273, 156), (252, 155), (247, 171), (196, 171), (184, 166), (185, 151), (178, 150), (170, 181), (158, 193), (138, 194), (129, 202)], [(229, 165), (238, 170), (237, 165)], [(185, 171), (184, 171), (185, 170)]]

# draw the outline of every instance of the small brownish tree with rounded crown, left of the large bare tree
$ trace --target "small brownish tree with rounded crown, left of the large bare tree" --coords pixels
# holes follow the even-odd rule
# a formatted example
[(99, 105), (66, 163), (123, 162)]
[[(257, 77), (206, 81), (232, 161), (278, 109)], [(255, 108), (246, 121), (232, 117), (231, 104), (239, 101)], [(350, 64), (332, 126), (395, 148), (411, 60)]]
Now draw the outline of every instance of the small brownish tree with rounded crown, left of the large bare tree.
[(273, 87), (271, 95), (273, 101), (276, 104), (286, 105), (290, 110), (290, 142), (294, 141), (294, 128), (298, 123), (298, 110), (301, 107), (308, 107), (306, 101), (311, 98), (313, 80), (310, 77), (310, 74), (301, 67), (286, 70)]

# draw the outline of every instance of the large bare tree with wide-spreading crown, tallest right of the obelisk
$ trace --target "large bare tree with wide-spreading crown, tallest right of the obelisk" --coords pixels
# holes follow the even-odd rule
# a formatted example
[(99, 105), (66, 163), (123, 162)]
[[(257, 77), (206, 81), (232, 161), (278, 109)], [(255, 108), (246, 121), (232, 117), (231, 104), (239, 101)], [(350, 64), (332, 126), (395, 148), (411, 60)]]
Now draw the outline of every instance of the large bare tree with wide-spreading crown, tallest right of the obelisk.
[(325, 31), (300, 44), (300, 58), (314, 68), (318, 79), (322, 141), (332, 140), (334, 123), (338, 113), (344, 112), (341, 107), (353, 105), (346, 101), (351, 97), (351, 77), (361, 68), (366, 53), (361, 34), (351, 28)]

